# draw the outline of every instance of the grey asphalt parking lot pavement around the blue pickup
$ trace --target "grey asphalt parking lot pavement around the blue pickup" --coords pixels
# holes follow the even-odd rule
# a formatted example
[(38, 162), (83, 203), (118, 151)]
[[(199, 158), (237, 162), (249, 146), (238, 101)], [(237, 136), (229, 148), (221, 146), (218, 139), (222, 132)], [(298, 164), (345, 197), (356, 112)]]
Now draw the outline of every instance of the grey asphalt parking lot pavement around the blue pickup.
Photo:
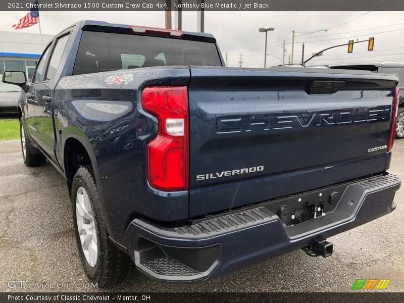
[[(404, 140), (394, 143), (390, 172), (404, 179)], [(339, 234), (329, 258), (301, 250), (257, 266), (192, 285), (160, 283), (136, 273), (110, 291), (349, 291), (358, 278), (390, 279), (386, 291), (404, 291), (404, 188), (397, 209)], [(102, 289), (19, 289), (10, 280), (86, 282), (81, 268), (69, 194), (50, 165), (28, 168), (19, 140), (0, 141), (0, 291), (102, 291)]]

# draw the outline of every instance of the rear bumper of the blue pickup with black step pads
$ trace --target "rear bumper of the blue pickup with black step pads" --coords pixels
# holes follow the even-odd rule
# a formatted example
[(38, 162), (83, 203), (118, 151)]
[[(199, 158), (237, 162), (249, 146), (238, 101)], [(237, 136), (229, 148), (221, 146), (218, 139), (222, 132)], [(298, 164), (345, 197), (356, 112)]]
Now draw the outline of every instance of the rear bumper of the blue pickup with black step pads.
[[(276, 200), (194, 220), (181, 227), (163, 227), (138, 218), (126, 231), (128, 248), (139, 271), (156, 280), (205, 281), (386, 215), (395, 208), (394, 194), (400, 184), (398, 177), (387, 174), (335, 185), (331, 190), (338, 186), (344, 190), (336, 203), (330, 202), (332, 211), (290, 226), (269, 210)], [(322, 196), (319, 193), (324, 190), (309, 194)], [(297, 200), (305, 194), (291, 198)], [(331, 253), (328, 251), (328, 255)]]

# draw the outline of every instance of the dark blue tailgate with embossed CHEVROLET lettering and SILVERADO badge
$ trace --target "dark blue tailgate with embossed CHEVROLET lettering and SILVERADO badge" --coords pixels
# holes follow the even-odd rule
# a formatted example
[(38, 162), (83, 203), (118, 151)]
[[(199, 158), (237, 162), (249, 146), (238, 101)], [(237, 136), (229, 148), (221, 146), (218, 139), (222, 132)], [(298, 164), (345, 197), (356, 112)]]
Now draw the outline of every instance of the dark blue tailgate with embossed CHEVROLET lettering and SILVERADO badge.
[(190, 216), (383, 172), (394, 76), (191, 67)]

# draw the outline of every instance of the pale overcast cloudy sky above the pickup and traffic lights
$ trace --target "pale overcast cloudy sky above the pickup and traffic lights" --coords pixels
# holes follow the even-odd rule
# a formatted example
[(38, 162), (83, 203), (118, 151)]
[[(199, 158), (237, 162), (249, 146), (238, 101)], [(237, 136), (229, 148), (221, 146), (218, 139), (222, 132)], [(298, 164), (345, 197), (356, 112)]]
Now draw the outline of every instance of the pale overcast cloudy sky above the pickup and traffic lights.
[[(12, 25), (25, 14), (0, 12), (0, 30), (14, 31)], [(223, 56), (228, 54), (228, 66), (238, 66), (241, 53), (243, 67), (264, 67), (265, 33), (258, 31), (260, 27), (275, 28), (269, 33), (267, 66), (282, 64), (283, 39), (287, 63), (292, 30), (296, 32), (294, 63), (301, 61), (302, 42), (308, 59), (325, 47), (369, 37), (375, 37), (373, 52), (367, 52), (366, 42), (358, 43), (352, 54), (347, 54), (346, 46), (339, 47), (313, 59), (311, 64), (404, 62), (403, 17), (404, 12), (206, 12), (205, 31), (215, 35)], [(83, 19), (164, 27), (164, 12), (40, 12), (41, 31), (56, 34)], [(196, 12), (183, 13), (183, 29), (196, 30)], [(19, 31), (38, 33), (39, 27)], [(314, 31), (317, 32), (311, 33)]]

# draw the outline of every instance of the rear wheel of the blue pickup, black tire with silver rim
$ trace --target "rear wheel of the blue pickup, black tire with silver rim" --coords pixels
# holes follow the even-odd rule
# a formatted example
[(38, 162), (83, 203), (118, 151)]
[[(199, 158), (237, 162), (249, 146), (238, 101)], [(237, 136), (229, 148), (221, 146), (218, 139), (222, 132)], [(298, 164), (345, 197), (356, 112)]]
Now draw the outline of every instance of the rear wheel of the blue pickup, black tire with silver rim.
[(87, 277), (98, 287), (123, 280), (134, 264), (109, 238), (91, 166), (80, 167), (74, 176), (72, 210), (77, 247)]

